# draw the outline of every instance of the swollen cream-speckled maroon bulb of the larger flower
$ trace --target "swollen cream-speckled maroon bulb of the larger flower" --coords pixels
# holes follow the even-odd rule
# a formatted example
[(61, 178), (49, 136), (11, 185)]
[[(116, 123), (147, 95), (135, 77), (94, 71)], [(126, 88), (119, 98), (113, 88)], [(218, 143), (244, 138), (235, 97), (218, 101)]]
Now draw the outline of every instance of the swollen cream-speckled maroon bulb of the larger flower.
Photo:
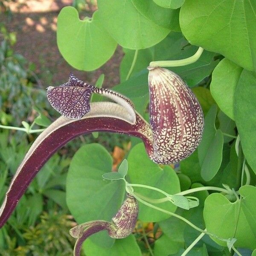
[(175, 163), (190, 154), (201, 141), (204, 115), (186, 83), (175, 73), (148, 67), (150, 125), (156, 163)]

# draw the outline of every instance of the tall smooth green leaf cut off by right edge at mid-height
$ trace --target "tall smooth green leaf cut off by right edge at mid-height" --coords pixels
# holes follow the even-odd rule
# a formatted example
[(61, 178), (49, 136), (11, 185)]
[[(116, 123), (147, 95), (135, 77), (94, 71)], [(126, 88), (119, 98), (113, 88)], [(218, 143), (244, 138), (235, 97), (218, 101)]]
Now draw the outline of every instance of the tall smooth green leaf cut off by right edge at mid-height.
[(243, 70), (235, 94), (235, 119), (245, 158), (256, 173), (256, 74)]

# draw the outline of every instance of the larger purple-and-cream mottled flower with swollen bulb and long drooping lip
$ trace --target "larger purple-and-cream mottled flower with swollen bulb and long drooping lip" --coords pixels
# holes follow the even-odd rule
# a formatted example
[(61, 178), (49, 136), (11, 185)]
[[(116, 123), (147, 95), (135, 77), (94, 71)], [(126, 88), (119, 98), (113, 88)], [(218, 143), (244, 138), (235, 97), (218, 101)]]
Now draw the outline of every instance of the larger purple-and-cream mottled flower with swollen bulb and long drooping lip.
[[(18, 167), (0, 208), (0, 227), (44, 163), (81, 134), (108, 131), (139, 137), (155, 163), (175, 163), (192, 154), (204, 127), (198, 100), (177, 74), (158, 67), (148, 69), (150, 125), (125, 96), (93, 87), (72, 74), (67, 83), (48, 87), (47, 98), (62, 116), (38, 136)], [(91, 93), (103, 94), (116, 103), (90, 104)]]

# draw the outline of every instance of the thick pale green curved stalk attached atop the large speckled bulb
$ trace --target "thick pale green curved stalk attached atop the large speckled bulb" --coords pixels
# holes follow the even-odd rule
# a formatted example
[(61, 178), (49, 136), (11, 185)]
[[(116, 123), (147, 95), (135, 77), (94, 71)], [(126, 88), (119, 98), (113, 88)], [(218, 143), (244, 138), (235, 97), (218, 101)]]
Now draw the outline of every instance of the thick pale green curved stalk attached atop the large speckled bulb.
[(151, 61), (149, 66), (150, 67), (180, 67), (180, 66), (185, 66), (188, 64), (192, 64), (195, 61), (197, 61), (200, 56), (202, 55), (204, 49), (202, 47), (199, 47), (197, 52), (189, 57), (189, 58), (184, 58), (181, 60), (174, 60), (174, 61)]

